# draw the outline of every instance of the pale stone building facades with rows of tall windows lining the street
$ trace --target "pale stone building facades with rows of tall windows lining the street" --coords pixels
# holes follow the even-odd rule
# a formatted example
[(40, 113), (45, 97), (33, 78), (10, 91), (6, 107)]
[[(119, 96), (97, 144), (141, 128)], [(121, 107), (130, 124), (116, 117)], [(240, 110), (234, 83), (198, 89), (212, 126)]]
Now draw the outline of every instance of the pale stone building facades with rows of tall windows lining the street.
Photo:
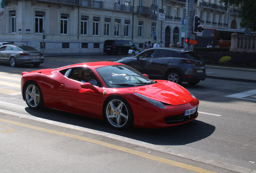
[[(158, 23), (162, 47), (182, 41), (186, 0), (6, 0), (0, 41), (28, 44), (44, 53), (78, 53), (103, 52), (105, 40), (128, 39), (143, 50), (145, 41), (155, 42), (157, 31), (151, 4), (166, 16)], [(204, 27), (240, 29), (237, 12), (216, 0), (194, 3)]]

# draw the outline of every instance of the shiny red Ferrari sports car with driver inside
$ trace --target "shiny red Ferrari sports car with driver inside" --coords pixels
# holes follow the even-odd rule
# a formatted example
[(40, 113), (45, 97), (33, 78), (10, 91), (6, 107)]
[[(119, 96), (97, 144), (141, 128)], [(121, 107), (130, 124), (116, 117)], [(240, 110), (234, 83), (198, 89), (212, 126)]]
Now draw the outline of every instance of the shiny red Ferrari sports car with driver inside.
[(171, 81), (150, 80), (118, 62), (23, 72), (21, 91), (31, 109), (105, 119), (116, 129), (171, 127), (198, 116), (199, 101), (189, 91)]

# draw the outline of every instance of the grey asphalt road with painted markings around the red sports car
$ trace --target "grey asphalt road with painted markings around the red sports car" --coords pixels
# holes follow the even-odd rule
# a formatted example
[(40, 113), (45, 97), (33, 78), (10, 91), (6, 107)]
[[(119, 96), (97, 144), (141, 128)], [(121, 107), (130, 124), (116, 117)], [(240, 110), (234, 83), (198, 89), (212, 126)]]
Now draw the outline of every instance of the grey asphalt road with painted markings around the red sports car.
[(22, 71), (116, 57), (47, 57), (39, 67), (0, 64), (1, 172), (256, 173), (255, 83), (210, 78), (194, 86), (183, 83), (200, 101), (199, 116), (166, 129), (117, 131), (97, 119), (33, 111), (22, 101)]

